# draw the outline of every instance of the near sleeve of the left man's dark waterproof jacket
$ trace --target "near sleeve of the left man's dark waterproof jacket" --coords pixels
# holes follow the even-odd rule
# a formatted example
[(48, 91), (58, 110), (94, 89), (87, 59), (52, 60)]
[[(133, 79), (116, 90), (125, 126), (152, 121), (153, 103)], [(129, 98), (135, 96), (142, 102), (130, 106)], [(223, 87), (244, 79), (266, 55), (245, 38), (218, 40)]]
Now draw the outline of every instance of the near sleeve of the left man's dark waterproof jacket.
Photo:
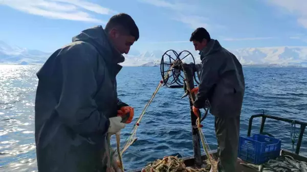
[(58, 55), (62, 91), (56, 111), (65, 125), (85, 136), (105, 134), (109, 127), (109, 120), (98, 112), (93, 99), (97, 91), (95, 52), (89, 45), (77, 44)]

